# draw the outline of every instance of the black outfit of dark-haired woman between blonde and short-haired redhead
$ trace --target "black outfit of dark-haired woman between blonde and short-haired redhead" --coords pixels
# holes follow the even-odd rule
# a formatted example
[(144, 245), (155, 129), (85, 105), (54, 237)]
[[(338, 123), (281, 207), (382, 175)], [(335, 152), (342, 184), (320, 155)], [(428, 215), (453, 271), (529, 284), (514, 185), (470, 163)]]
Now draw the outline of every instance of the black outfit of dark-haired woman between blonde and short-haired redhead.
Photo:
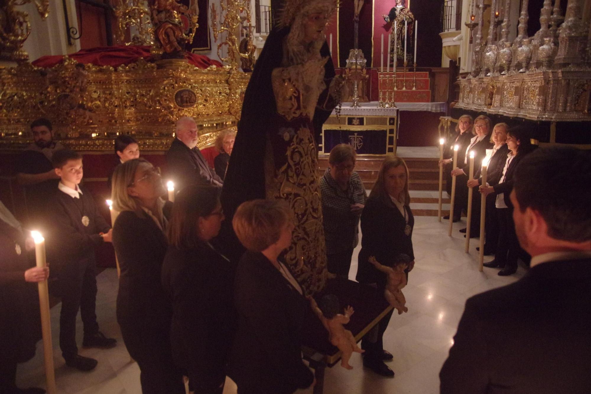
[(169, 246), (162, 285), (173, 306), (170, 340), (191, 388), (213, 392), (226, 376), (236, 326), (235, 266), (206, 243), (193, 249)]

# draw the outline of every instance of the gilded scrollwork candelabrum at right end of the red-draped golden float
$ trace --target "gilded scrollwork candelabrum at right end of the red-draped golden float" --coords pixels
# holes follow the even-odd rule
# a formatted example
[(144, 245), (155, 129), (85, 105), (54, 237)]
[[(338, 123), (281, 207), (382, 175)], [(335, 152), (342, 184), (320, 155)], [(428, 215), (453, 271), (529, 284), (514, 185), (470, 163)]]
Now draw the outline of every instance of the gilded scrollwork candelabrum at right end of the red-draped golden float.
[[(211, 18), (213, 38), (217, 42), (217, 37), (222, 33), (226, 33), (225, 41), (217, 44), (217, 56), (222, 60), (222, 63), (228, 64), (232, 69), (238, 69), (239, 59), (246, 59), (249, 63), (252, 63), (252, 66), (254, 66), (253, 54), (255, 46), (252, 43), (253, 31), (251, 25), (250, 1), (222, 0), (220, 1), (220, 8), (219, 18), (221, 19), (223, 16), (223, 21), (218, 25), (217, 8), (215, 4), (212, 3)], [(239, 27), (241, 27), (241, 25), (243, 26), (243, 24), (246, 24), (245, 28), (248, 30), (245, 53), (240, 51), (239, 38), (236, 37), (235, 34), (235, 31), (238, 31)], [(224, 46), (228, 51), (227, 56), (222, 56), (222, 48)]]

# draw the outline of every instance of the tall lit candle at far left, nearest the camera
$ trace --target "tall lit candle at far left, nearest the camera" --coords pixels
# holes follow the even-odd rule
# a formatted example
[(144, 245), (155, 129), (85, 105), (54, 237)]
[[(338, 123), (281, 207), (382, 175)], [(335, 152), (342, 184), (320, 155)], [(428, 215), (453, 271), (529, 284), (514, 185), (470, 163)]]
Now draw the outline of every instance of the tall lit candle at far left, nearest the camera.
[[(35, 241), (35, 259), (37, 267), (47, 267), (45, 256), (45, 238), (38, 231), (31, 231)], [(48, 394), (57, 394), (56, 374), (53, 368), (53, 346), (51, 344), (51, 318), (49, 314), (49, 293), (47, 279), (37, 283), (39, 290), (39, 308), (41, 311), (41, 334), (43, 335), (43, 359), (45, 361), (45, 379)]]

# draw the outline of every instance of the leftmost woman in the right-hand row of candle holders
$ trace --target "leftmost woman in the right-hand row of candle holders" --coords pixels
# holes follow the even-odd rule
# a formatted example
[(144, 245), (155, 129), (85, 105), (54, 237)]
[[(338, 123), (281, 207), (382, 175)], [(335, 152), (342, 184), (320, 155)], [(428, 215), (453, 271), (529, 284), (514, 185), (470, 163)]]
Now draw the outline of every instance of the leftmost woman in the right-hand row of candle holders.
[[(452, 135), (452, 137), (447, 141), (447, 146), (451, 146), (451, 148), (447, 149), (446, 147), (446, 150), (443, 153), (443, 157), (445, 157), (445, 159), (439, 160), (439, 166), (443, 166), (443, 172), (446, 174), (446, 191), (449, 195), (452, 195), (452, 169), (457, 167), (458, 163), (461, 163), (463, 166), (466, 147), (469, 146), (470, 139), (473, 137), (474, 133), (473, 125), (474, 120), (470, 115), (462, 115), (457, 120), (456, 134)], [(458, 163), (452, 163), (453, 147), (455, 145), (459, 146), (457, 154)], [(456, 195), (459, 192), (460, 186), (463, 187), (463, 185), (460, 185), (459, 182), (456, 182)], [(459, 221), (461, 214), (461, 211), (454, 209), (453, 221)], [(444, 219), (449, 219), (449, 215), (444, 217)]]

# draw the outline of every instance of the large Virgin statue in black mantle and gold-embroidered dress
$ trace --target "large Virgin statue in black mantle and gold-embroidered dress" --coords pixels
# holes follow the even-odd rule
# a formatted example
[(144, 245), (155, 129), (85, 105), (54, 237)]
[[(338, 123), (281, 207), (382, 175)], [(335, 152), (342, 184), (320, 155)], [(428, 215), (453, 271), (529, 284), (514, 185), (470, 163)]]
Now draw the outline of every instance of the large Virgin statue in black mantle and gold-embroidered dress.
[(246, 88), (222, 189), (230, 258), (241, 252), (231, 231), (238, 205), (256, 198), (290, 205), (296, 227), (284, 261), (308, 294), (327, 276), (316, 141), (345, 93), (324, 35), (336, 7), (336, 0), (285, 2)]

